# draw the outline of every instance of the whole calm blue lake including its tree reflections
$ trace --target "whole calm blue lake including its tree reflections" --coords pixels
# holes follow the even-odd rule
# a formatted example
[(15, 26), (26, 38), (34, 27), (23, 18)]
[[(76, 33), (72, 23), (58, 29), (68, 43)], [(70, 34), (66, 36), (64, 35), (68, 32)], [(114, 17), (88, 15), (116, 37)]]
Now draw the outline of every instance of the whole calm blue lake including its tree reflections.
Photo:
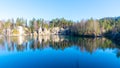
[(120, 46), (105, 38), (1, 37), (0, 68), (120, 68)]

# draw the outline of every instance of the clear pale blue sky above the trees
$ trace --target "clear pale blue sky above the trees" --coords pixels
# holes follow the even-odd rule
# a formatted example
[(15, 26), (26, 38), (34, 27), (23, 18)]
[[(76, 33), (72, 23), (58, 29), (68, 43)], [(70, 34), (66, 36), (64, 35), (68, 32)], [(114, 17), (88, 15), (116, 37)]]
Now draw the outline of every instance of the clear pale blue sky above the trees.
[(0, 0), (0, 20), (44, 18), (100, 19), (120, 16), (120, 0)]

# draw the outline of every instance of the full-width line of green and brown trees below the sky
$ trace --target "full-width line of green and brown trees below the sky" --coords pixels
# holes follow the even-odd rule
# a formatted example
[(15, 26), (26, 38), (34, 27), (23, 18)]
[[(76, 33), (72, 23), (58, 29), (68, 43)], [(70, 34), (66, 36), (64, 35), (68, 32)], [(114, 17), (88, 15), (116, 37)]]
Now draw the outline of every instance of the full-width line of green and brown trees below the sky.
[(52, 29), (54, 27), (60, 27), (64, 29), (69, 29), (67, 34), (77, 35), (77, 36), (110, 36), (114, 38), (120, 32), (120, 17), (107, 17), (102, 19), (88, 19), (81, 21), (71, 21), (64, 18), (56, 18), (51, 21), (46, 21), (44, 19), (33, 18), (27, 21), (23, 18), (9, 19), (7, 21), (0, 21), (0, 33), (3, 33), (3, 29), (13, 29), (16, 31), (17, 26), (25, 27), (26, 33), (33, 33), (38, 31), (40, 27)]

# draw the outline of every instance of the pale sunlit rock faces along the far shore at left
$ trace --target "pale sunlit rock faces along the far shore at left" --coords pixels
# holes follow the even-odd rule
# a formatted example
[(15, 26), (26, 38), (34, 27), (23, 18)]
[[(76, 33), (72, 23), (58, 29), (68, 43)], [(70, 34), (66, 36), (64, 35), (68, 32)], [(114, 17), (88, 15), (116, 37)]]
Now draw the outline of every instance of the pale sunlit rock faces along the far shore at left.
[[(68, 29), (60, 28), (60, 27), (54, 27), (54, 28), (39, 28), (38, 30), (34, 31), (32, 35), (37, 36), (37, 35), (65, 35), (66, 31)], [(5, 35), (6, 36), (24, 36), (27, 35), (26, 31), (28, 29), (22, 26), (16, 27), (16, 29), (6, 29), (5, 30)], [(30, 35), (30, 34), (29, 34)]]

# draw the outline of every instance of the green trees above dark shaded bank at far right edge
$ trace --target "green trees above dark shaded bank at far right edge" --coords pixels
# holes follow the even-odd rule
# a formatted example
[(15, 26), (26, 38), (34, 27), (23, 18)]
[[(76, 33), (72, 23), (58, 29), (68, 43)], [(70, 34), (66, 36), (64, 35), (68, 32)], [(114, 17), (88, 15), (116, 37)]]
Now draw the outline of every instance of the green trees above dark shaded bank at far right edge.
[(106, 30), (105, 37), (120, 44), (120, 17), (108, 17), (99, 20), (102, 27)]

